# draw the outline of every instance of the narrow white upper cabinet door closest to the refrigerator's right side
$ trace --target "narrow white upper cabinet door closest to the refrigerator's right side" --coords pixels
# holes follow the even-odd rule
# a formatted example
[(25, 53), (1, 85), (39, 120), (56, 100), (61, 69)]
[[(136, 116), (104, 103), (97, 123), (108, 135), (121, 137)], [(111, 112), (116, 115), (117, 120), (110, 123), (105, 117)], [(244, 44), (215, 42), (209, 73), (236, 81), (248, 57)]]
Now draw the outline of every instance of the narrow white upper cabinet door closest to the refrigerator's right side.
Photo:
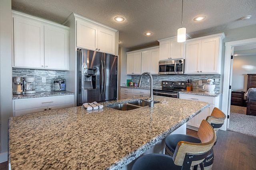
[(141, 52), (127, 53), (126, 74), (141, 74)]

